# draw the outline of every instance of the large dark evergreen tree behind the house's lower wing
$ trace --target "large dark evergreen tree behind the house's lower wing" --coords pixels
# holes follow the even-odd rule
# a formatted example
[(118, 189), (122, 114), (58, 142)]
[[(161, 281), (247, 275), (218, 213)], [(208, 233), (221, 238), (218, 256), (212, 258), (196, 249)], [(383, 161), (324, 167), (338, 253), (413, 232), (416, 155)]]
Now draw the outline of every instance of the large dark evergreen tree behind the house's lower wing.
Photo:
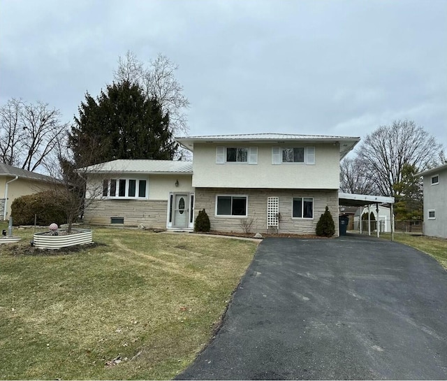
[(173, 159), (177, 150), (169, 115), (159, 101), (126, 80), (108, 85), (96, 100), (85, 95), (68, 143), (75, 164), (82, 166), (115, 159)]

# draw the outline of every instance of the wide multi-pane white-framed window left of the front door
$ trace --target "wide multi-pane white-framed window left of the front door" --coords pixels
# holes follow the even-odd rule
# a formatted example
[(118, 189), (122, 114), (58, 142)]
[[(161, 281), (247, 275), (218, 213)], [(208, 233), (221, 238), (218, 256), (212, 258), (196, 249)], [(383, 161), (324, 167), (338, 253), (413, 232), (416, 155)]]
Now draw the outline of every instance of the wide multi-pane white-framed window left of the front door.
[(130, 178), (103, 180), (103, 197), (147, 199), (147, 180)]

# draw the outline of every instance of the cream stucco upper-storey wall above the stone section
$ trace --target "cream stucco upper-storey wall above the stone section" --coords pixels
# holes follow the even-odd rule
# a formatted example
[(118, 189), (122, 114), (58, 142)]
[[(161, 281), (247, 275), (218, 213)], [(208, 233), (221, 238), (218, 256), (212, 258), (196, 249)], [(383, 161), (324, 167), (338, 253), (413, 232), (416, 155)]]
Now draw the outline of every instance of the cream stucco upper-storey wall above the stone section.
[(216, 148), (223, 144), (194, 145), (193, 187), (283, 189), (339, 189), (339, 146), (336, 144), (283, 144), (315, 147), (315, 164), (272, 164), (276, 144), (230, 145), (257, 147), (258, 164), (216, 164)]

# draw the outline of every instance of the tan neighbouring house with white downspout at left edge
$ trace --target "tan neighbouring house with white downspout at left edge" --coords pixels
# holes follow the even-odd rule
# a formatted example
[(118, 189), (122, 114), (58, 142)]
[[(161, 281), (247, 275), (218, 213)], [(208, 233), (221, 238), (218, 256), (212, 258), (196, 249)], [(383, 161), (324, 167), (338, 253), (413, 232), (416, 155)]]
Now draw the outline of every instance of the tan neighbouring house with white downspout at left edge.
[(0, 215), (8, 220), (11, 204), (17, 197), (34, 194), (54, 186), (54, 178), (0, 163)]

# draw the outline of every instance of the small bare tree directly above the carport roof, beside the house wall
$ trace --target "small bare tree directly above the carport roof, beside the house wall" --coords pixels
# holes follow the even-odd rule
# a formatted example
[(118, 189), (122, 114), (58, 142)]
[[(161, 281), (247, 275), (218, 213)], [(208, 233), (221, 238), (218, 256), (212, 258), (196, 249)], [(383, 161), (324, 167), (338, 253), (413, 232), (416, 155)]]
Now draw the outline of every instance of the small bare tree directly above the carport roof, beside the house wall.
[(346, 157), (340, 164), (340, 189), (345, 193), (377, 193), (374, 181), (362, 161), (349, 157)]

